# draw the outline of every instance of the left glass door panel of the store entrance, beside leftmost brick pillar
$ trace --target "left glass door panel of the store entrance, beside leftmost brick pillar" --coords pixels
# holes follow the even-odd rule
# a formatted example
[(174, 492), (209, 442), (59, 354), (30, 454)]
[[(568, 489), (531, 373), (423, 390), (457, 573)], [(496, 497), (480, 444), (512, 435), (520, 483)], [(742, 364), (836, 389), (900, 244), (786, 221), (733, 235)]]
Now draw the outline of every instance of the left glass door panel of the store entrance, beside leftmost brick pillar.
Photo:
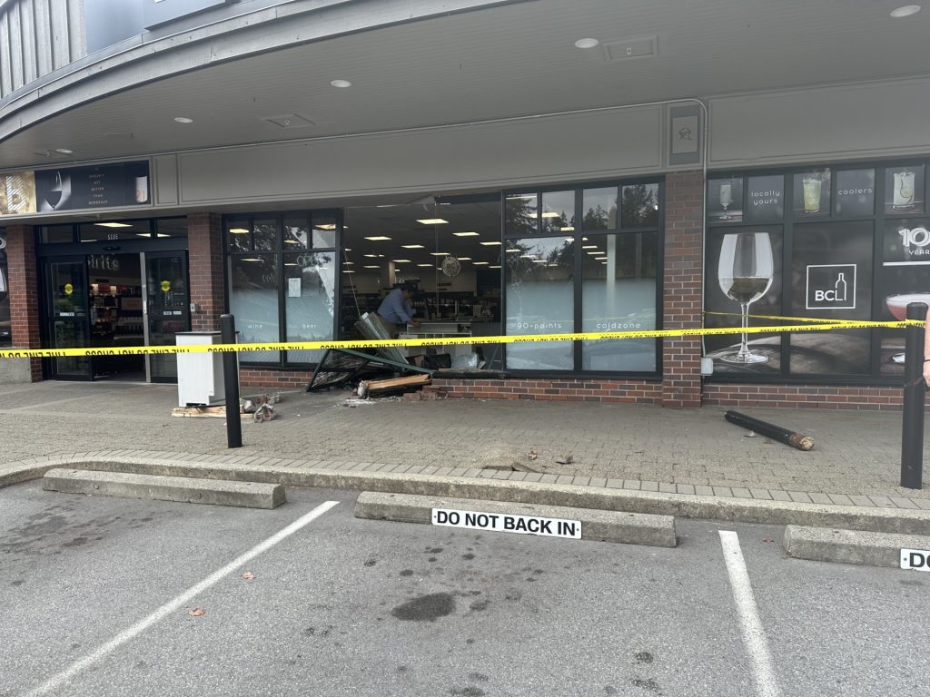
[[(46, 318), (52, 349), (85, 349), (90, 324), (87, 314), (87, 270), (84, 256), (65, 257), (46, 264)], [(55, 358), (50, 361), (52, 377), (90, 380), (90, 359), (86, 356)]]

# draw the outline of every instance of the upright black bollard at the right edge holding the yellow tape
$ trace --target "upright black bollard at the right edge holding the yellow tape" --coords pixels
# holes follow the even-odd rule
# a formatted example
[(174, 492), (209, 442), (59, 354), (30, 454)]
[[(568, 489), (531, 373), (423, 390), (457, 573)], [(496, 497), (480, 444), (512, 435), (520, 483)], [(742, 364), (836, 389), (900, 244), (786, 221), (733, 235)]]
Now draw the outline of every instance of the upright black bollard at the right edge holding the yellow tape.
[[(910, 303), (909, 320), (923, 322), (927, 306)], [(904, 417), (901, 428), (901, 486), (923, 488), (923, 326), (904, 330)]]

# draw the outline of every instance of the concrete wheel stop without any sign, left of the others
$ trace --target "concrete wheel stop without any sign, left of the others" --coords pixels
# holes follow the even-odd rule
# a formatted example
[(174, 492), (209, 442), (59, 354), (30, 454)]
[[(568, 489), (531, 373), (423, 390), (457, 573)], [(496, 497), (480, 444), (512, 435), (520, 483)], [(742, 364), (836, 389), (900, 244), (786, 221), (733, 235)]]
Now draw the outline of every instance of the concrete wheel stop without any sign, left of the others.
[(280, 484), (254, 481), (196, 480), (87, 469), (49, 469), (42, 478), (46, 491), (89, 493), (95, 496), (180, 501), (212, 506), (276, 508), (285, 503)]

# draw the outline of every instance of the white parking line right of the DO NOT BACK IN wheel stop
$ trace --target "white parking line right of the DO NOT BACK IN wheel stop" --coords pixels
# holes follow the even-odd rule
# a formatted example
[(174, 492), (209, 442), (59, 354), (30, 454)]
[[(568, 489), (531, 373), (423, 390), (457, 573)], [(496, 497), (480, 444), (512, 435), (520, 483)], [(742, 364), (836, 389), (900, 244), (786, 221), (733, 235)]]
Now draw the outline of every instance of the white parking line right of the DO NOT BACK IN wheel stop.
[(759, 610), (752, 595), (750, 574), (746, 571), (746, 561), (739, 548), (737, 533), (720, 531), (720, 544), (724, 547), (726, 572), (730, 576), (733, 599), (737, 603), (739, 628), (743, 634), (743, 643), (750, 654), (752, 679), (755, 681), (759, 697), (780, 697), (775, 668), (772, 667), (772, 654), (768, 650), (768, 639), (759, 619)]

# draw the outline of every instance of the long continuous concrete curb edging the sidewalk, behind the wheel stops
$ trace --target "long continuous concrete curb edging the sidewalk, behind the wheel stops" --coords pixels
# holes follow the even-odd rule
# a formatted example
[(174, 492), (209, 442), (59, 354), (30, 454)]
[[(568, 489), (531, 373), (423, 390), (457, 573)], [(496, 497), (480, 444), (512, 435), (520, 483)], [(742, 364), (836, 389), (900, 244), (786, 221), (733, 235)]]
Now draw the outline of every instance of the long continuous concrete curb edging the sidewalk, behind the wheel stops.
[[(261, 460), (262, 458), (259, 458)], [(264, 458), (271, 460), (272, 458)], [(287, 462), (290, 466), (275, 465)], [(575, 484), (497, 480), (479, 477), (327, 469), (326, 463), (300, 467), (294, 461), (265, 464), (231, 462), (222, 455), (145, 456), (133, 451), (75, 454), (0, 468), (0, 486), (35, 479), (52, 467), (191, 477), (207, 480), (260, 481), (283, 486), (411, 493), (449, 498), (512, 501), (545, 506), (667, 515), (676, 518), (804, 525), (881, 533), (930, 533), (930, 511), (866, 506), (830, 506), (683, 493), (644, 492)]]

